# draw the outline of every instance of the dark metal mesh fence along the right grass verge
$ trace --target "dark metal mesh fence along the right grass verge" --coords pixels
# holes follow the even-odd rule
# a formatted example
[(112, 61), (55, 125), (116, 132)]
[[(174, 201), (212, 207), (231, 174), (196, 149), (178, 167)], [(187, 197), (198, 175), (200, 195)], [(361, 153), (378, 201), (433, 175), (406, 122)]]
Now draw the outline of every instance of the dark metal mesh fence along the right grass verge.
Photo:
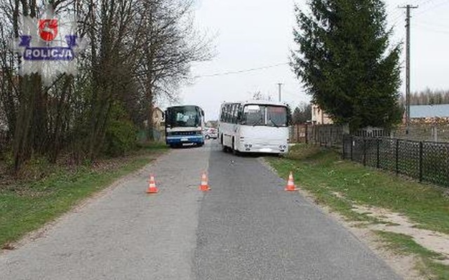
[(449, 187), (449, 143), (344, 135), (344, 159)]

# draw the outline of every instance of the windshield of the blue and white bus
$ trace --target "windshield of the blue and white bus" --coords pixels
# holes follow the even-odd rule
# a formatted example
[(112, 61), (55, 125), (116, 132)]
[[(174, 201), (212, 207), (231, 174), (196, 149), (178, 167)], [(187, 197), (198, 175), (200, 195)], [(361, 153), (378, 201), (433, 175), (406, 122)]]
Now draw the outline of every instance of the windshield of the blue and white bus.
[(167, 126), (199, 127), (201, 126), (201, 111), (194, 106), (170, 107), (167, 109)]

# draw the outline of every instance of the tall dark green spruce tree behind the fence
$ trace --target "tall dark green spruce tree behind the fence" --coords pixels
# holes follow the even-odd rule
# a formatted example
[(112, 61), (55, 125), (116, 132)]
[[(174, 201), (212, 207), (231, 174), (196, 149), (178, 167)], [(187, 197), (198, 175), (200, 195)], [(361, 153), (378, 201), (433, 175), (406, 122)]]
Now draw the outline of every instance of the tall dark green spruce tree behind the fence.
[(389, 46), (381, 0), (311, 0), (295, 6), (290, 65), (312, 101), (351, 129), (389, 127), (401, 119), (401, 44)]

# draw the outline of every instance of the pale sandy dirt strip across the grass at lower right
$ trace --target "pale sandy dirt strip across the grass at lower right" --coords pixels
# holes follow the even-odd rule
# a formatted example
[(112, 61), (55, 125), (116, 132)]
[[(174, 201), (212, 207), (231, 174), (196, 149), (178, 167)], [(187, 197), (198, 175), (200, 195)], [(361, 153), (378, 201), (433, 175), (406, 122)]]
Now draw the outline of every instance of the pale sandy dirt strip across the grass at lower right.
[(386, 224), (367, 225), (373, 230), (382, 230), (384, 232), (394, 232), (406, 234), (422, 247), (444, 255), (446, 260), (441, 262), (449, 265), (449, 235), (441, 232), (434, 232), (428, 229), (420, 229), (416, 224), (410, 222), (408, 218), (400, 213), (387, 211), (386, 209), (368, 206), (353, 206), (357, 213), (365, 213)]

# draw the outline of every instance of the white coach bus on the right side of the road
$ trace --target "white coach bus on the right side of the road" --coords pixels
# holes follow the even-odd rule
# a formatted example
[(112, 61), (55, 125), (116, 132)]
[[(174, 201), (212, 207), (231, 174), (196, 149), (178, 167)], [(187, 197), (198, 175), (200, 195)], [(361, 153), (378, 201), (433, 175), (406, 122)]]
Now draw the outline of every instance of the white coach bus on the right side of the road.
[(223, 149), (233, 152), (288, 152), (288, 107), (271, 101), (225, 102), (218, 135)]

